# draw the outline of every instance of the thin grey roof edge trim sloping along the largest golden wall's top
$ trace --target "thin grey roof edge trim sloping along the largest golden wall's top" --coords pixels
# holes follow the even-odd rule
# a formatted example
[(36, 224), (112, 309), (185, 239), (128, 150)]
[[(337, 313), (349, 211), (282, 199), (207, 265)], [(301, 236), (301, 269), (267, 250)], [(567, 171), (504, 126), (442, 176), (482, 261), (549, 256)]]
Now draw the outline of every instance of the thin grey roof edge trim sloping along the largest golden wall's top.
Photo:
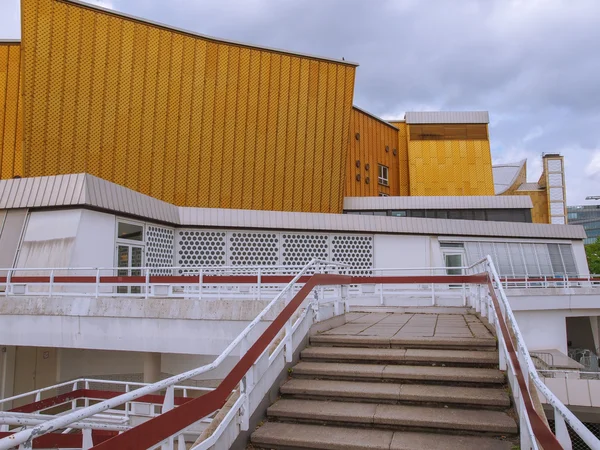
[(191, 37), (202, 38), (202, 39), (206, 39), (206, 40), (209, 40), (209, 41), (218, 42), (218, 43), (221, 43), (221, 44), (237, 45), (237, 46), (240, 46), (240, 47), (247, 47), (247, 48), (252, 48), (252, 49), (256, 49), (256, 50), (266, 50), (266, 51), (275, 52), (275, 53), (283, 53), (285, 55), (290, 55), (290, 56), (299, 56), (301, 58), (318, 59), (318, 60), (321, 60), (321, 61), (333, 62), (333, 63), (337, 63), (337, 64), (344, 64), (344, 65), (353, 66), (353, 67), (358, 67), (358, 65), (359, 65), (356, 62), (346, 61), (346, 60), (343, 60), (343, 59), (328, 58), (328, 57), (325, 57), (325, 56), (311, 55), (311, 54), (308, 54), (308, 53), (291, 52), (289, 50), (282, 50), (282, 49), (279, 49), (279, 48), (263, 47), (263, 46), (260, 46), (260, 45), (247, 44), (247, 43), (244, 43), (244, 42), (238, 42), (238, 41), (232, 41), (232, 40), (228, 40), (228, 39), (217, 38), (217, 37), (214, 37), (214, 36), (208, 36), (208, 35), (205, 35), (205, 34), (196, 33), (194, 31), (185, 30), (183, 28), (173, 27), (173, 26), (170, 26), (170, 25), (166, 25), (164, 23), (155, 22), (153, 20), (144, 19), (142, 17), (137, 17), (137, 16), (134, 16), (134, 15), (131, 15), (131, 14), (120, 12), (120, 11), (115, 11), (113, 9), (104, 8), (102, 6), (93, 5), (91, 3), (82, 2), (80, 0), (57, 0), (57, 1), (61, 1), (61, 2), (64, 2), (64, 3), (71, 3), (73, 5), (78, 5), (78, 6), (81, 6), (83, 8), (94, 9), (96, 11), (100, 11), (100, 12), (103, 12), (103, 13), (106, 13), (106, 14), (110, 14), (110, 15), (113, 15), (113, 16), (122, 17), (122, 18), (130, 19), (130, 20), (135, 20), (137, 22), (145, 23), (147, 25), (152, 25), (152, 26), (155, 26), (155, 27), (164, 28), (164, 29), (169, 30), (169, 31), (174, 31), (174, 32), (177, 32), (177, 33), (182, 33), (182, 34), (187, 34), (188, 36), (191, 36)]

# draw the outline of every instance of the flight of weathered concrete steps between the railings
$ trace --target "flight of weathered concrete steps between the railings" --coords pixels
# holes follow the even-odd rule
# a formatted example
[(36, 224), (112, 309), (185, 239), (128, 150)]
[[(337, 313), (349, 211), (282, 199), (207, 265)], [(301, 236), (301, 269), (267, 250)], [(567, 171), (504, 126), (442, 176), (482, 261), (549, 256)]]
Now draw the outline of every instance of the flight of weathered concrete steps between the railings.
[(313, 336), (281, 387), (281, 398), (268, 408), (268, 421), (252, 434), (251, 445), (513, 447), (518, 430), (491, 335), (394, 336)]

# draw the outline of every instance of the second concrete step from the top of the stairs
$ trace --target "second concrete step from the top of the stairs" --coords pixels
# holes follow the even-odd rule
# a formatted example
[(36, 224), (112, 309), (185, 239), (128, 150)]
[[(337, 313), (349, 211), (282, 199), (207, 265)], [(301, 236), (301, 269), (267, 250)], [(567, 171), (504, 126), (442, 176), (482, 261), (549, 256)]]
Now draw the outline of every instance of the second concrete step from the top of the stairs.
[(304, 361), (389, 362), (395, 364), (446, 364), (460, 366), (497, 366), (498, 352), (437, 350), (421, 348), (308, 347)]

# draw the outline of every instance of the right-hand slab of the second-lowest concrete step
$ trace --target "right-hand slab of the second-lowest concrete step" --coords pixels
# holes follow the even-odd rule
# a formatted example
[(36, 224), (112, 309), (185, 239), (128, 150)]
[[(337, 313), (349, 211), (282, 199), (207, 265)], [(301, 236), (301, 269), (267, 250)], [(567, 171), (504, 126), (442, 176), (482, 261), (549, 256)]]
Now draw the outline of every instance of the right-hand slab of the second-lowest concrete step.
[[(331, 402), (333, 403), (333, 402)], [(331, 407), (332, 413), (335, 408)], [(325, 411), (321, 410), (321, 414)], [(516, 434), (517, 424), (508, 414), (483, 409), (435, 408), (408, 405), (377, 405), (374, 423), (401, 427)]]

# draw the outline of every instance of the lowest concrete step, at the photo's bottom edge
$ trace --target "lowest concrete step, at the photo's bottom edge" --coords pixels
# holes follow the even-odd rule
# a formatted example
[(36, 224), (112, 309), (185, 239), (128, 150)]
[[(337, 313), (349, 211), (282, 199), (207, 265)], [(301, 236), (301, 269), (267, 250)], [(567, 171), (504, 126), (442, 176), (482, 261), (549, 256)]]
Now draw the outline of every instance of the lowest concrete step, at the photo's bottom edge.
[(252, 434), (254, 448), (329, 450), (510, 450), (499, 439), (435, 433), (267, 422)]

